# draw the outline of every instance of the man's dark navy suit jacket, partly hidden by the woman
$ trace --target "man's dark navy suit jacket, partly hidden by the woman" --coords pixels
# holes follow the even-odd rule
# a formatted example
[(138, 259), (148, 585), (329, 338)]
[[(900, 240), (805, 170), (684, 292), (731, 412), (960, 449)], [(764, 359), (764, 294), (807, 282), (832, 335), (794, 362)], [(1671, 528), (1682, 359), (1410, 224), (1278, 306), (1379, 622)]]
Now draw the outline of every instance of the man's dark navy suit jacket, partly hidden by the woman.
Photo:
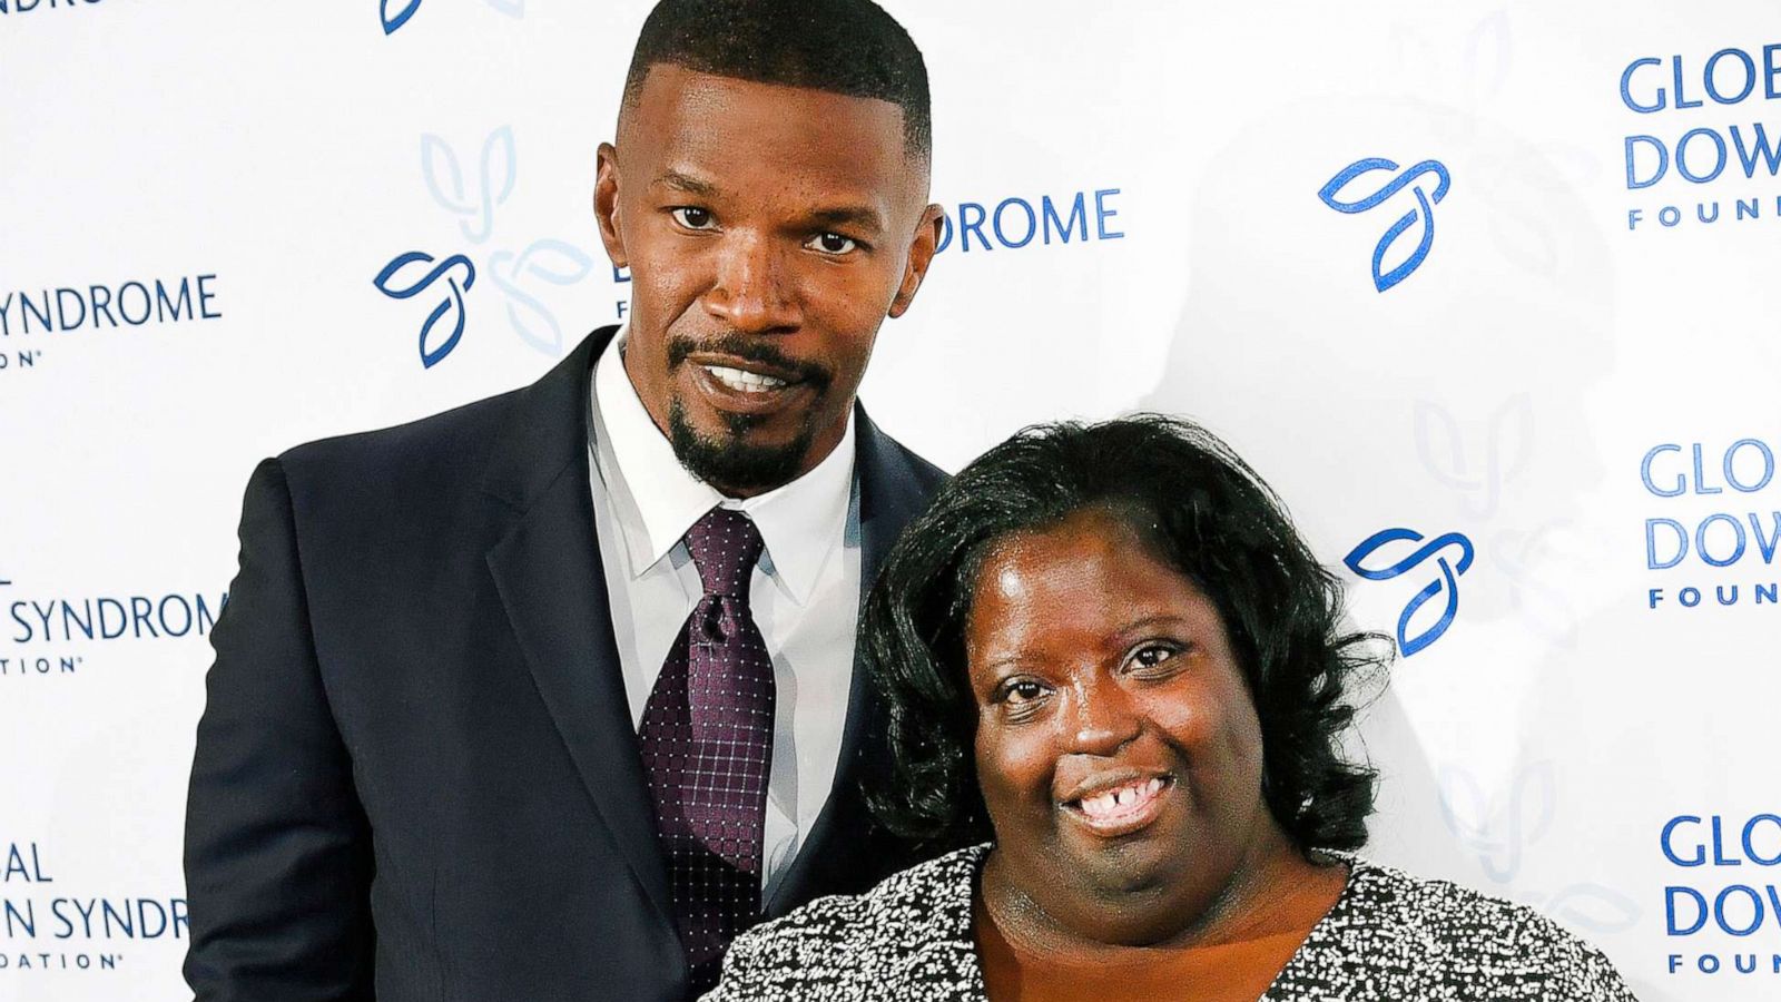
[[(185, 818), (199, 1002), (687, 995), (588, 480), (613, 330), (531, 387), (255, 471)], [(869, 587), (944, 474), (855, 421)], [(855, 665), (769, 915), (915, 861), (866, 811), (883, 767)]]

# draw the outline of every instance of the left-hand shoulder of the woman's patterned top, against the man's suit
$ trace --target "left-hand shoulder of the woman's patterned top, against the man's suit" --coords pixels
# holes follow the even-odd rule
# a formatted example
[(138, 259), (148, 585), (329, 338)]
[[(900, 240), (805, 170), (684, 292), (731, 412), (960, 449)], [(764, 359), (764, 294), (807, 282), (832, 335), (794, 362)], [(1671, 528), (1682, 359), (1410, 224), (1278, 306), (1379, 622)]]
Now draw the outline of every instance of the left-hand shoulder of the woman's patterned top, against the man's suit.
[(862, 895), (821, 897), (730, 943), (723, 981), (705, 1002), (944, 997), (974, 970), (971, 895), (987, 845), (892, 874)]

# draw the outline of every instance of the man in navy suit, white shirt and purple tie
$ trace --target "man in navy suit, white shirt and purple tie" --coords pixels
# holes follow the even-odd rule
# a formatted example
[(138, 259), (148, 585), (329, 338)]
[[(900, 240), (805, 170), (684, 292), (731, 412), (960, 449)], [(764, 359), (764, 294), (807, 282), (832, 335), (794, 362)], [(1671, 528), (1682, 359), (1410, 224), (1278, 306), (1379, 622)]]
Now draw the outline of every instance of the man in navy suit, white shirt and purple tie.
[(915, 296), (921, 53), (869, 0), (664, 0), (595, 212), (627, 326), (248, 485), (187, 815), (199, 1000), (686, 998), (912, 859), (862, 588), (942, 474), (855, 401)]

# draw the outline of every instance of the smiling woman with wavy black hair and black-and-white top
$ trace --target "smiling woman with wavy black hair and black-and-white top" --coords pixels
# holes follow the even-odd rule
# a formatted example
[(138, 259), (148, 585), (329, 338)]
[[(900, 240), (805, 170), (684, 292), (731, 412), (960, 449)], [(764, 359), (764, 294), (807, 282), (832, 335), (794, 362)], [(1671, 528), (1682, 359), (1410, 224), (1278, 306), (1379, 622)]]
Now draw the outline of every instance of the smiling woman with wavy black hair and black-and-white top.
[(965, 467), (860, 644), (892, 708), (883, 820), (967, 843), (743, 936), (712, 1000), (1631, 998), (1553, 922), (1354, 850), (1343, 756), (1382, 640), (1266, 483), (1156, 415)]

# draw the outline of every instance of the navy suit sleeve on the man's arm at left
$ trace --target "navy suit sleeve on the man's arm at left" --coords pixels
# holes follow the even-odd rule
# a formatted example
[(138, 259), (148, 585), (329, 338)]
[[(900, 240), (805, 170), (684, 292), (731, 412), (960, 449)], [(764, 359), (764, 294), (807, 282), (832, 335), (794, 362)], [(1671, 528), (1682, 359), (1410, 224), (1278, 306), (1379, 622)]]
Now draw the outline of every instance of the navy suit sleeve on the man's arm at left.
[(370, 827), (322, 692), (278, 460), (248, 481), (185, 809), (198, 1002), (372, 998)]

